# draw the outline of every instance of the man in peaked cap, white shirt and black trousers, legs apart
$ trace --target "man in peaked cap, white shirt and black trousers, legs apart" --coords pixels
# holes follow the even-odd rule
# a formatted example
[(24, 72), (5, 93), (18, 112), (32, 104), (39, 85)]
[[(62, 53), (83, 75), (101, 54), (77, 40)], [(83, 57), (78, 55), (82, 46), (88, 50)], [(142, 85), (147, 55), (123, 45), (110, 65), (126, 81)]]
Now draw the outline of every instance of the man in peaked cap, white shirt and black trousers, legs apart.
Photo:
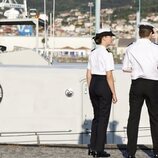
[(131, 72), (132, 78), (127, 125), (128, 158), (135, 158), (138, 126), (144, 101), (150, 118), (154, 157), (158, 158), (158, 45), (151, 42), (153, 34), (153, 25), (141, 23), (140, 39), (127, 47), (123, 61), (123, 71)]

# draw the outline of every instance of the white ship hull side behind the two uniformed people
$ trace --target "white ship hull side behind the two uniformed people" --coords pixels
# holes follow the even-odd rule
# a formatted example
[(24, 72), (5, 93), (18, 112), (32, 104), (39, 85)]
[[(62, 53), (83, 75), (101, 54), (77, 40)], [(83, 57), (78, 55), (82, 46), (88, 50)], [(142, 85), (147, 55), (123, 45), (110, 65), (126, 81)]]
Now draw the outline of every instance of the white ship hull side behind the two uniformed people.
[[(0, 143), (88, 144), (93, 118), (85, 69), (1, 66)], [(108, 143), (126, 144), (130, 75), (114, 72), (118, 103), (112, 105)], [(66, 92), (73, 92), (71, 97)], [(151, 144), (143, 107), (139, 144)]]

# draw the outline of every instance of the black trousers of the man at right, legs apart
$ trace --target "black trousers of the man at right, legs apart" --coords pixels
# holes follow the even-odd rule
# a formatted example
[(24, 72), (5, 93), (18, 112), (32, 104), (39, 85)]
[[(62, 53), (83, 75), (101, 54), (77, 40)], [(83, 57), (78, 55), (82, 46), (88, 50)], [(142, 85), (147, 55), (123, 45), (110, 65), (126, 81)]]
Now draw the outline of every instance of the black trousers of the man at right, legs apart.
[(158, 154), (158, 81), (139, 78), (132, 81), (129, 95), (127, 150), (130, 155), (136, 153), (138, 126), (144, 101), (148, 108), (153, 150)]

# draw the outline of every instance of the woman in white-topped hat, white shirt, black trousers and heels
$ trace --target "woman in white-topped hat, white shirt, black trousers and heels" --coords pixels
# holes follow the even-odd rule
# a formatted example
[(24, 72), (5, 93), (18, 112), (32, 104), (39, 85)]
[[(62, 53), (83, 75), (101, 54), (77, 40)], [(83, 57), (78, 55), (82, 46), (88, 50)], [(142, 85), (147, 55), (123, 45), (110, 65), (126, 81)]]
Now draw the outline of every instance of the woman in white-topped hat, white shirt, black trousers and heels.
[(93, 157), (110, 157), (104, 151), (106, 131), (109, 122), (111, 103), (117, 102), (112, 71), (114, 60), (106, 48), (112, 43), (112, 31), (100, 29), (93, 38), (98, 45), (89, 55), (87, 83), (93, 106), (94, 119), (91, 126), (89, 155)]

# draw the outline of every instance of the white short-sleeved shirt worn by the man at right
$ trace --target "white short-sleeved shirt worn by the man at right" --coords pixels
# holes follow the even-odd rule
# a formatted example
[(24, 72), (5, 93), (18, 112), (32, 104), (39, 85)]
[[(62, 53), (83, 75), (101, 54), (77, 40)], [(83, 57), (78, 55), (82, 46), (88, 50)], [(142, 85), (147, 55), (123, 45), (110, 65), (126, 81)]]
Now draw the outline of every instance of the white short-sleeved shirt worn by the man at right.
[(131, 70), (132, 79), (158, 80), (158, 45), (142, 38), (126, 49), (123, 70)]

